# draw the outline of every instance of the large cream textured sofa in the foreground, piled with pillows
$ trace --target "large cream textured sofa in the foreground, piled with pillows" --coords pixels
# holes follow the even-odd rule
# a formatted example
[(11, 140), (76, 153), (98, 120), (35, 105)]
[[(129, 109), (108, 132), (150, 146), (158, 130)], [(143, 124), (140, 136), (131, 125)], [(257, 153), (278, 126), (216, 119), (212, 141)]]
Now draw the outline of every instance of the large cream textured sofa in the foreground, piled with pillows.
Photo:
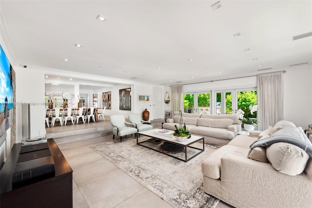
[(311, 154), (311, 142), (291, 122), (238, 135), (202, 162), (204, 191), (237, 208), (311, 208), (312, 157), (307, 149), (284, 142), (249, 148), (276, 135), (302, 139)]

